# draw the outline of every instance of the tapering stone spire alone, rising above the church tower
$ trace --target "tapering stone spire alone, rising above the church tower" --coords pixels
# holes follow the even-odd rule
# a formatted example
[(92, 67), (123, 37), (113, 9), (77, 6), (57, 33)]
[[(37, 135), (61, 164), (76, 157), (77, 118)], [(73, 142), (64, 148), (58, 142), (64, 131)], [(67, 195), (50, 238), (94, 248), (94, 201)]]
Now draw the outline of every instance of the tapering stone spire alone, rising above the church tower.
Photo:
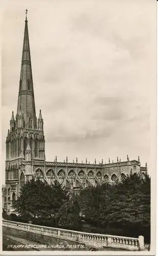
[(24, 127), (37, 129), (27, 12), (28, 10), (26, 10), (25, 19), (24, 43), (22, 49), (21, 72), (17, 104), (17, 118), (20, 114), (19, 112), (21, 111), (21, 113), (24, 115)]

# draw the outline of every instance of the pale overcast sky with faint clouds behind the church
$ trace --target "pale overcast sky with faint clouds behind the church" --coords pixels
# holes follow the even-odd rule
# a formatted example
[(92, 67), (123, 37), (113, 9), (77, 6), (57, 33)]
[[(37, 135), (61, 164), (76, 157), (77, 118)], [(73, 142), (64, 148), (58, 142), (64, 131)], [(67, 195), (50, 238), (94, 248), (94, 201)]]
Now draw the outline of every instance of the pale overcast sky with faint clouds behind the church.
[[(46, 160), (150, 167), (156, 1), (15, 0), (3, 13), (2, 150), (17, 110), (25, 9)], [(4, 163), (3, 163), (4, 168)], [(149, 170), (150, 172), (150, 170)]]

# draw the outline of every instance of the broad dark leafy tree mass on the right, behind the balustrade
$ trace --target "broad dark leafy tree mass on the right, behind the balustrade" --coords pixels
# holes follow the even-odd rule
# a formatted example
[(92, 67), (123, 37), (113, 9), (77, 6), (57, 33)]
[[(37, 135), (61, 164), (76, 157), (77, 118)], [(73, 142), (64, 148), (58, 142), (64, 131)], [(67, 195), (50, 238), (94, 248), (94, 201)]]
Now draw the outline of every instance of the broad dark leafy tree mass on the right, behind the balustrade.
[(78, 198), (86, 219), (98, 227), (123, 228), (134, 236), (150, 233), (150, 178), (130, 174), (117, 184), (81, 191)]

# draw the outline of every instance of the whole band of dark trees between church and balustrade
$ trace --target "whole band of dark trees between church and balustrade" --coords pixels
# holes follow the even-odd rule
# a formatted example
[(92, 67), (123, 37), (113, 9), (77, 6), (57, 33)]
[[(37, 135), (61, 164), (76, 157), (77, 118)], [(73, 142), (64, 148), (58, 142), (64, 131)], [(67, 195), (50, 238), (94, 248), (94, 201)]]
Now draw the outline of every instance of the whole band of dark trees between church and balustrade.
[[(116, 236), (142, 235), (150, 243), (149, 176), (143, 179), (138, 174), (129, 175), (115, 185), (104, 183), (85, 188), (77, 196), (68, 196), (57, 183), (50, 186), (31, 180), (13, 205), (20, 217), (5, 219)], [(90, 227), (82, 227), (80, 212)]]

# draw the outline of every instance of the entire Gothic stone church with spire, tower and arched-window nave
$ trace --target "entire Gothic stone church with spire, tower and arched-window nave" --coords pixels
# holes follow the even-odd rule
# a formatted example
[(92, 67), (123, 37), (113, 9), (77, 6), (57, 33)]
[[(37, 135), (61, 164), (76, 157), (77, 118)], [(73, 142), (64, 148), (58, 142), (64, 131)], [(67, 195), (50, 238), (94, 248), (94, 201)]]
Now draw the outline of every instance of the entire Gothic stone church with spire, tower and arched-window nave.
[(130, 173), (147, 173), (147, 164), (138, 160), (89, 163), (66, 160), (46, 161), (43, 118), (41, 110), (36, 117), (34, 89), (29, 46), (28, 20), (26, 15), (24, 42), (19, 79), (17, 113), (12, 112), (10, 129), (6, 139), (6, 188), (3, 190), (4, 208), (10, 212), (11, 202), (17, 199), (20, 189), (33, 177), (53, 184), (59, 182), (67, 189), (80, 190), (103, 182), (116, 182)]

